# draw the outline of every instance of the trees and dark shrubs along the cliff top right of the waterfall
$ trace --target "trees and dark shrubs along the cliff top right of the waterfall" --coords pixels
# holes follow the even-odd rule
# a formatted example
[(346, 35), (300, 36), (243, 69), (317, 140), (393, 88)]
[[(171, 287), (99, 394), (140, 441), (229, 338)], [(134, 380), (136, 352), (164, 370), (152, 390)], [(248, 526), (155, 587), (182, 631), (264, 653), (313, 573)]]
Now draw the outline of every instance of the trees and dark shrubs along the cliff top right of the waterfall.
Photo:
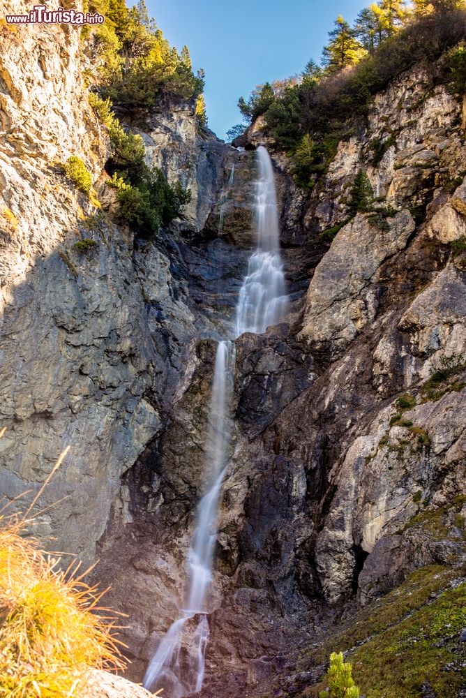
[(409, 10), (403, 0), (379, 0), (354, 27), (338, 17), (320, 66), (309, 61), (297, 77), (258, 86), (239, 108), (247, 121), (264, 117), (268, 135), (294, 157), (296, 184), (312, 186), (375, 94), (408, 68), (423, 64), (433, 84), (463, 95), (465, 40), (464, 0), (414, 0)]

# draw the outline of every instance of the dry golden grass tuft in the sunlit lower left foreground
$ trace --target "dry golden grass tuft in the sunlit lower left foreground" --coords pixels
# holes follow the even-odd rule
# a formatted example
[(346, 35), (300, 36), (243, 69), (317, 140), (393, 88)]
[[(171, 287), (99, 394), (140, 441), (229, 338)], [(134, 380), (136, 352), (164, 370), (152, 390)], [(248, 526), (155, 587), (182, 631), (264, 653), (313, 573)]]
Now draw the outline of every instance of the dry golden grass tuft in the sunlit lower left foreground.
[(89, 669), (124, 667), (102, 595), (28, 535), (40, 493), (23, 517), (0, 511), (0, 698), (72, 698)]

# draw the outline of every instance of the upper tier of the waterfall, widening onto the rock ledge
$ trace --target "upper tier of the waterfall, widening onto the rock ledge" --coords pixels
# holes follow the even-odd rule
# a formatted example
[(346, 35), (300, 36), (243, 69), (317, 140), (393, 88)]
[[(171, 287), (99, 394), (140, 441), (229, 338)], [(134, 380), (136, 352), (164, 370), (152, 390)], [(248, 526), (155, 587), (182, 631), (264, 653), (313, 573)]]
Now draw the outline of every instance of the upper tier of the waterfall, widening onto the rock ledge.
[(283, 320), (287, 296), (280, 256), (277, 195), (269, 153), (257, 148), (259, 177), (256, 182), (255, 225), (257, 248), (249, 258), (248, 274), (236, 307), (236, 336), (244, 332), (262, 334)]

